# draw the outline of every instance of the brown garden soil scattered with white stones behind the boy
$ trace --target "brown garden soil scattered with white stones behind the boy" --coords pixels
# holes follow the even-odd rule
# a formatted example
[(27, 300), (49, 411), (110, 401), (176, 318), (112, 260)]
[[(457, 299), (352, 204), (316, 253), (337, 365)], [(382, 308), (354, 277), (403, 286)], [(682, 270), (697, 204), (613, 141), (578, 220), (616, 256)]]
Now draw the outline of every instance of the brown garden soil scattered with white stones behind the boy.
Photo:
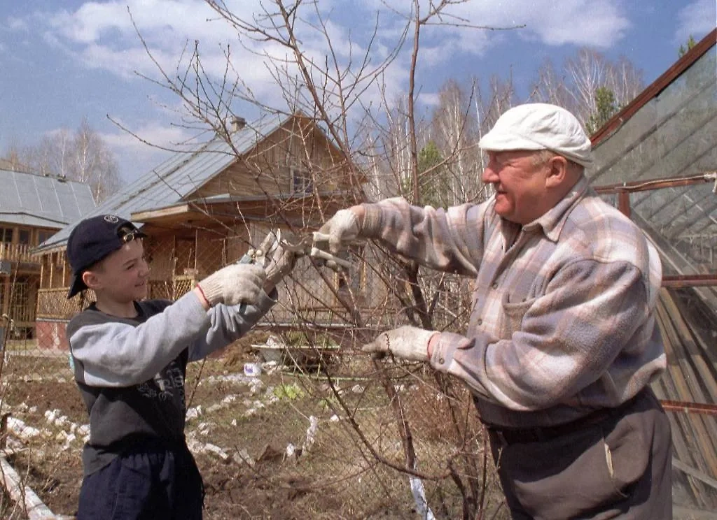
[[(247, 378), (243, 363), (255, 359), (238, 348), (189, 366), (186, 433), (204, 478), (206, 519), (419, 518), (408, 477), (376, 463), (355, 428), (338, 419), (326, 383), (307, 384), (282, 371)], [(23, 439), (22, 428), (12, 423), (7, 446), (19, 451), (8, 460), (54, 514), (74, 515), (82, 479), (81, 426), (87, 416), (67, 358), (10, 355), (0, 381), (2, 409), (11, 413), (11, 421), (41, 431)], [(386, 458), (400, 463), (394, 430), (360, 419), (380, 403), (371, 401), (365, 386), (357, 390), (356, 381), (343, 384), (356, 420), (366, 421), (361, 423), (364, 434)], [(316, 429), (310, 435), (312, 421)], [(429, 467), (427, 458), (445, 451), (442, 435), (416, 433), (415, 438), (419, 461), (429, 462), (426, 471), (444, 472), (440, 479), (424, 481), (429, 506), (437, 518), (452, 518), (460, 497), (445, 465)], [(486, 510), (491, 514), (486, 517), (498, 509), (495, 518), (500, 519), (502, 496), (494, 481), (488, 485)], [(23, 518), (6, 495), (0, 516)]]

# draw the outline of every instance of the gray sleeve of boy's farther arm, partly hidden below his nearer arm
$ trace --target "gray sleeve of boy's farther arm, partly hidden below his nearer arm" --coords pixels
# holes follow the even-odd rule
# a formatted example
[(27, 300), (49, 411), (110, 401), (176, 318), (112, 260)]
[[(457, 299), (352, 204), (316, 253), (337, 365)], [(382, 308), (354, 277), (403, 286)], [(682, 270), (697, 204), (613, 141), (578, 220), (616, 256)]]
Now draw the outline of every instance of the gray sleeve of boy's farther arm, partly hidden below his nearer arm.
[(271, 285), (262, 291), (257, 305), (214, 305), (207, 312), (209, 328), (189, 348), (189, 360), (205, 358), (241, 338), (269, 312), (276, 300), (277, 290)]

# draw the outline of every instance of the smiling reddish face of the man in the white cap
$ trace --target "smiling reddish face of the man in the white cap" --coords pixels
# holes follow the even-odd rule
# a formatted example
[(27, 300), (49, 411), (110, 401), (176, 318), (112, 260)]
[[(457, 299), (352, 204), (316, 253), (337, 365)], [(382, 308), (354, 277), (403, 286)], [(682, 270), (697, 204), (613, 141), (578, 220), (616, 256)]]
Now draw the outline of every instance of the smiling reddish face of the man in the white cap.
[(536, 152), (488, 152), (483, 182), (495, 188), (495, 212), (505, 220), (525, 225), (541, 217), (545, 207), (549, 164), (536, 165)]

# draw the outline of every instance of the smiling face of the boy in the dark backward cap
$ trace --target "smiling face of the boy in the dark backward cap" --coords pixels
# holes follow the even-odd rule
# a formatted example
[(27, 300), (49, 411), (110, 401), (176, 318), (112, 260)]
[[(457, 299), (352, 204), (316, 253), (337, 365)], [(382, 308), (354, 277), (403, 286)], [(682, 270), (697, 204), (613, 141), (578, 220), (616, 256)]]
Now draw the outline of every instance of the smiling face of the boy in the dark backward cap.
[(128, 303), (147, 297), (149, 268), (144, 260), (142, 240), (130, 240), (97, 265), (85, 271), (82, 279), (103, 298)]

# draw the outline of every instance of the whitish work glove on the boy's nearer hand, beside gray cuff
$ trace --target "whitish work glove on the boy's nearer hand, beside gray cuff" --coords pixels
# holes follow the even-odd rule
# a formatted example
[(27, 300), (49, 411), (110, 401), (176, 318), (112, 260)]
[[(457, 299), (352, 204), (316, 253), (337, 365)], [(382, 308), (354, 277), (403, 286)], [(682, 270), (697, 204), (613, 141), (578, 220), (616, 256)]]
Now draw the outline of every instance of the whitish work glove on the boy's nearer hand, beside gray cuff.
[(209, 305), (256, 305), (264, 287), (266, 273), (261, 265), (232, 264), (207, 276), (198, 284)]

